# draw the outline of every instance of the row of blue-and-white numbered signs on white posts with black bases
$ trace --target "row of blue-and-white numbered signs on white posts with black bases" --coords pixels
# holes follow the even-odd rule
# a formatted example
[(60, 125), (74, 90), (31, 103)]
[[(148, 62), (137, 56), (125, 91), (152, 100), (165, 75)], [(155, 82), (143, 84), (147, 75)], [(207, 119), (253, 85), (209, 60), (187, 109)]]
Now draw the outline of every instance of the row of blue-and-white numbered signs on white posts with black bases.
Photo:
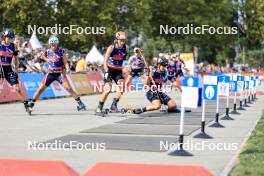
[[(221, 120), (234, 120), (229, 114), (239, 114), (236, 110), (237, 96), (240, 100), (240, 108), (242, 108), (242, 101), (244, 100), (244, 107), (247, 107), (247, 103), (256, 101), (257, 87), (261, 85), (264, 76), (261, 74), (208, 74), (201, 78), (198, 77), (184, 77), (182, 81), (182, 94), (181, 94), (181, 119), (180, 119), (180, 132), (179, 132), (179, 146), (180, 148), (170, 150), (169, 155), (176, 156), (192, 156), (191, 153), (185, 151), (183, 148), (184, 143), (184, 108), (196, 109), (199, 95), (199, 82), (202, 82), (202, 120), (201, 120), (201, 132), (194, 136), (194, 138), (210, 139), (212, 136), (205, 133), (205, 101), (216, 102), (216, 120), (210, 127), (223, 127), (219, 123), (219, 97), (226, 98), (226, 113)], [(202, 80), (202, 81), (199, 81)], [(242, 82), (242, 84), (241, 84)], [(239, 85), (239, 86), (238, 86)], [(239, 88), (238, 88), (239, 87)], [(261, 90), (262, 91), (262, 90)], [(240, 93), (239, 95), (237, 93)], [(230, 98), (233, 97), (234, 109), (230, 113)], [(238, 108), (239, 110), (239, 108)]]

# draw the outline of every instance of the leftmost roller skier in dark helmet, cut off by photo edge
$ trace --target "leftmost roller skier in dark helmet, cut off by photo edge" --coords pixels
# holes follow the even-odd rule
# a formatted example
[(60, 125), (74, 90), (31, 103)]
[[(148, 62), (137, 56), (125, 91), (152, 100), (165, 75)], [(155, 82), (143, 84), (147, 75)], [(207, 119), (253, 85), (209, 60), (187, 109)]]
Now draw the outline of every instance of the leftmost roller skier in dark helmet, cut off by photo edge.
[(23, 100), (25, 109), (27, 110), (28, 100), (22, 93), (18, 82), (17, 68), (19, 60), (16, 46), (12, 43), (14, 37), (15, 34), (11, 29), (4, 29), (0, 44), (0, 80), (2, 82), (2, 80), (5, 79), (12, 86)]

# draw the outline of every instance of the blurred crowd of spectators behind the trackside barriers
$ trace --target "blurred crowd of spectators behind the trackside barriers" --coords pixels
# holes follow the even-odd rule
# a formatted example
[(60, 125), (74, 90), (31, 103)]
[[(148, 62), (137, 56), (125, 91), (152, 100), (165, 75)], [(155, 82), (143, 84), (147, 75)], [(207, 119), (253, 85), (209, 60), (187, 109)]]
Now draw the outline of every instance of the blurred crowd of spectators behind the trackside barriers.
[[(46, 48), (33, 49), (28, 41), (17, 37), (15, 44), (18, 49), (18, 57), (20, 60), (18, 71), (20, 72), (36, 72), (46, 73), (48, 63), (42, 59), (42, 53)], [(67, 54), (70, 70), (72, 73), (87, 73), (87, 72), (100, 72), (102, 73), (103, 66), (96, 63), (88, 63), (85, 56), (76, 56), (74, 54)], [(153, 58), (155, 63), (155, 58)], [(263, 68), (253, 68), (247, 65), (234, 65), (230, 66), (228, 62), (225, 65), (214, 65), (206, 62), (201, 62), (195, 65), (195, 73), (242, 73), (242, 72), (264, 72)]]

